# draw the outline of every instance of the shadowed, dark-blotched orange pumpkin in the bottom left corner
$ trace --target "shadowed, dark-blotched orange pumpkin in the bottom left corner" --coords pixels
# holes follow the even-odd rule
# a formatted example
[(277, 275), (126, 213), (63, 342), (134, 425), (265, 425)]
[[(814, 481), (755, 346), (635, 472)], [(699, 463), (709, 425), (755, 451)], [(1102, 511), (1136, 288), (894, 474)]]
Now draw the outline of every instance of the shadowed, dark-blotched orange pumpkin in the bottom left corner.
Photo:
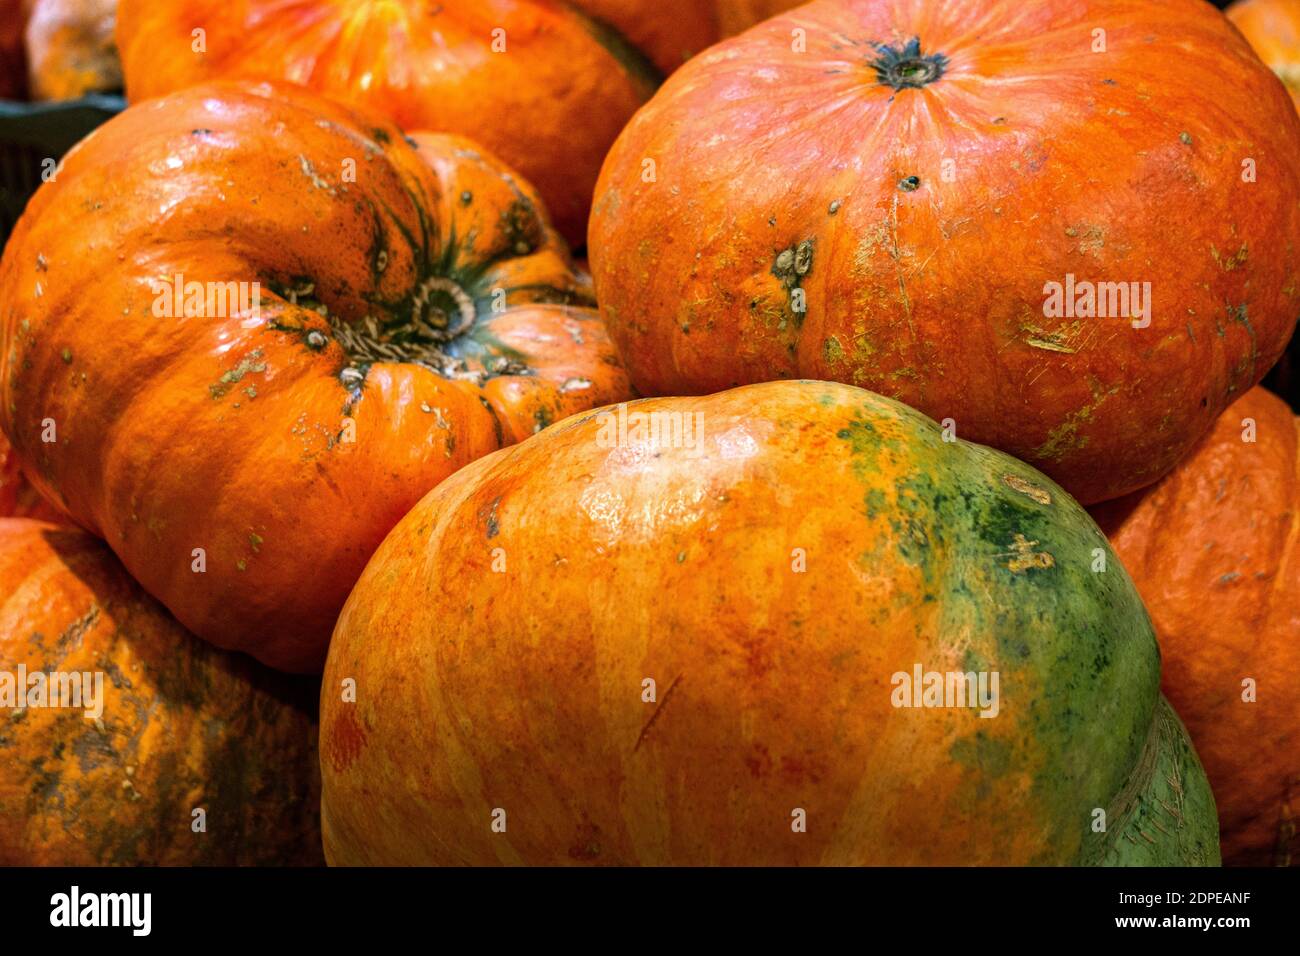
[(186, 633), (75, 528), (0, 519), (0, 865), (321, 861), (315, 687)]

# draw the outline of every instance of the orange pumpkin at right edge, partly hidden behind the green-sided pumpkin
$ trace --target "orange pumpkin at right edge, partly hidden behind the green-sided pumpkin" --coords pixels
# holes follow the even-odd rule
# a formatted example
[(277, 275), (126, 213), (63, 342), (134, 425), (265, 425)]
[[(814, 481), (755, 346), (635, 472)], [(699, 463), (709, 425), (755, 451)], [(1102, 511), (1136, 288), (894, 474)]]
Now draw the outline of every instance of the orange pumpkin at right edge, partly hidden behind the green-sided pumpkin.
[[(1252, 389), (1156, 486), (1096, 510), (1147, 602), (1223, 861), (1300, 865), (1300, 438)], [(1249, 683), (1247, 683), (1249, 682)]]

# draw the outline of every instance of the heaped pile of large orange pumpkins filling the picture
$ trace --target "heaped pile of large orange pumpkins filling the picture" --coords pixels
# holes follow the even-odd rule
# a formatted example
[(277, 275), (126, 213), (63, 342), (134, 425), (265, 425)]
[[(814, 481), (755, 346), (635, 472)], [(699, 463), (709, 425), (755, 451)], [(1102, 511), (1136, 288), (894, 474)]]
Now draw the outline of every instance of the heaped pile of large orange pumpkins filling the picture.
[(1300, 861), (1300, 0), (116, 42), (0, 264), (0, 862)]

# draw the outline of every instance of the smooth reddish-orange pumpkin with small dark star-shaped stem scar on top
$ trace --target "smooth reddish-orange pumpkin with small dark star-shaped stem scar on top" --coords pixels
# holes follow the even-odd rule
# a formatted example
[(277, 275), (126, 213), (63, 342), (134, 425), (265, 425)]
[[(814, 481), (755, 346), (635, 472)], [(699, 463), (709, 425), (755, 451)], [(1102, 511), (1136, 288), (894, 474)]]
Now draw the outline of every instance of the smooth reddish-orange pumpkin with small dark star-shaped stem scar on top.
[(1096, 502), (1274, 363), (1296, 235), (1300, 118), (1205, 4), (820, 0), (637, 114), (589, 254), (642, 394), (844, 381)]

